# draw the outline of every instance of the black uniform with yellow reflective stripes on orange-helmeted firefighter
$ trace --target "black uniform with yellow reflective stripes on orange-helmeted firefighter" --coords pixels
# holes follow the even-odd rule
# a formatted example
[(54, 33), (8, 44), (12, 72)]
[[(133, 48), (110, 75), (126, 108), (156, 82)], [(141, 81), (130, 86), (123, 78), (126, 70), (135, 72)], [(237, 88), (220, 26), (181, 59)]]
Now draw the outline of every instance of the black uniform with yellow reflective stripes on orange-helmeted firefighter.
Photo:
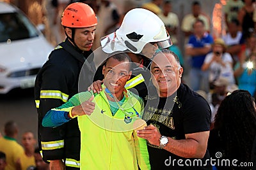
[[(79, 162), (80, 132), (77, 118), (54, 129), (42, 127), (42, 118), (47, 111), (61, 106), (78, 93), (81, 68), (86, 73), (83, 88), (92, 84), (95, 73), (92, 51), (82, 52), (68, 39), (53, 50), (36, 76), (35, 103), (38, 111), (38, 144), (42, 144), (43, 159), (65, 160), (66, 169), (72, 169), (73, 162)], [(87, 63), (87, 64), (86, 64)], [(86, 66), (83, 66), (86, 64)], [(41, 145), (40, 145), (41, 146)]]

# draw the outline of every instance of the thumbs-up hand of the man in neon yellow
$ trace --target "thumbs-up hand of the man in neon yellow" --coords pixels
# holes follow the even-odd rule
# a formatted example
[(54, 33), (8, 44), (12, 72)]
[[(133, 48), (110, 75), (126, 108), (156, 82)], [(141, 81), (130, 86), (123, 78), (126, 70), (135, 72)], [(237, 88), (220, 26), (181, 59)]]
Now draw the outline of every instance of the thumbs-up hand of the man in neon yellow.
[(72, 108), (72, 117), (81, 115), (91, 115), (93, 110), (95, 109), (95, 103), (92, 102), (93, 98), (94, 96), (90, 97), (88, 101), (84, 101), (79, 106)]

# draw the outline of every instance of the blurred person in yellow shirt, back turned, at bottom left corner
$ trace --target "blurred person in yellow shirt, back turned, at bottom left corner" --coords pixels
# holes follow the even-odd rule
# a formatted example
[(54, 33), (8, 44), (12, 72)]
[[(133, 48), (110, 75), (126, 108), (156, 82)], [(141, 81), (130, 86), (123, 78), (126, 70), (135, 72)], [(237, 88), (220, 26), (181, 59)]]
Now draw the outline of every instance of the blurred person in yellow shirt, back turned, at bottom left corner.
[(7, 170), (15, 170), (19, 157), (24, 153), (22, 146), (17, 143), (18, 126), (15, 122), (6, 122), (4, 137), (0, 138), (0, 151), (6, 154)]

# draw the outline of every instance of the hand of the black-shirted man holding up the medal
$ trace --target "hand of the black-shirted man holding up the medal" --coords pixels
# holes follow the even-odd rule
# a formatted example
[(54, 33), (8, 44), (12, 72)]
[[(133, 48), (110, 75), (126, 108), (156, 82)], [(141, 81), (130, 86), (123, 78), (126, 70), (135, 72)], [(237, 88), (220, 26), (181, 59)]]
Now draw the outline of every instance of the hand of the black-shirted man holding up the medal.
[(147, 139), (151, 145), (160, 145), (159, 139), (161, 138), (161, 134), (154, 125), (144, 127), (143, 130), (137, 131), (137, 134), (140, 138)]

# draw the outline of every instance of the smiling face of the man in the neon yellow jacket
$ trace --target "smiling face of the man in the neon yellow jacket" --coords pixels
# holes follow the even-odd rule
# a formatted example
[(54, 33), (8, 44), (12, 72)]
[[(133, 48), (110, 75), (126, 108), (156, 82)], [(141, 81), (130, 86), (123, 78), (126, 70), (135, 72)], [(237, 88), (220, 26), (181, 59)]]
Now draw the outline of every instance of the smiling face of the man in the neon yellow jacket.
[(103, 66), (104, 85), (116, 98), (122, 96), (124, 86), (127, 80), (131, 78), (130, 63), (127, 61), (118, 61), (113, 57), (109, 58), (106, 66)]

